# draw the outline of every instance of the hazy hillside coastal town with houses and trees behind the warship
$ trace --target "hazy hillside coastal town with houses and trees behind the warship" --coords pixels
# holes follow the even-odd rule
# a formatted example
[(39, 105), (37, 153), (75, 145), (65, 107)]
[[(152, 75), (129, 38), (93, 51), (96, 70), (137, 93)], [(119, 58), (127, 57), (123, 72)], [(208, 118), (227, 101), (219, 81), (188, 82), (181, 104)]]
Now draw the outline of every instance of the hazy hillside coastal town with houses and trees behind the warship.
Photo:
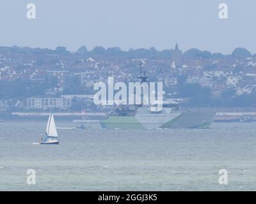
[[(95, 105), (97, 82), (138, 82), (143, 67), (148, 82), (162, 82), (166, 99), (188, 107), (256, 106), (256, 54), (236, 48), (229, 55), (178, 43), (168, 50), (119, 47), (0, 47), (0, 112), (107, 112)], [(142, 64), (142, 66), (140, 66)], [(102, 110), (105, 109), (105, 110)]]

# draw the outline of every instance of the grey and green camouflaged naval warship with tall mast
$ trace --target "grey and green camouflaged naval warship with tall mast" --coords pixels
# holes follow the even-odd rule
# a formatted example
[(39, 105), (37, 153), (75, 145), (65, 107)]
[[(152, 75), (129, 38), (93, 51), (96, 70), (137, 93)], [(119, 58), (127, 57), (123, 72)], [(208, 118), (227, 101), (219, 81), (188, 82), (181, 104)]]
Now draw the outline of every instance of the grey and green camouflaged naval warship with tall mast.
[[(141, 66), (142, 67), (142, 66)], [(140, 82), (147, 82), (145, 72), (140, 73)], [(109, 112), (104, 119), (74, 120), (85, 128), (97, 129), (178, 129), (178, 128), (209, 128), (214, 121), (216, 112), (181, 110), (179, 103), (172, 99), (164, 99), (163, 107), (150, 105), (120, 105)]]

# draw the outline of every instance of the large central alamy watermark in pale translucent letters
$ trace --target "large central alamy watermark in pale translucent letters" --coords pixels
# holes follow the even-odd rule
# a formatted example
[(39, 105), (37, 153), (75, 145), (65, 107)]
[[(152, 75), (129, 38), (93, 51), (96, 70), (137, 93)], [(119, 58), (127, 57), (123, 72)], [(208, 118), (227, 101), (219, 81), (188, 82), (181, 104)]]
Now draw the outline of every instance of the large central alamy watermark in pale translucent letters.
[(108, 85), (97, 82), (93, 90), (98, 91), (93, 97), (95, 105), (153, 105), (159, 110), (163, 108), (163, 82), (129, 82), (127, 87), (124, 82), (114, 84), (114, 78), (109, 77)]

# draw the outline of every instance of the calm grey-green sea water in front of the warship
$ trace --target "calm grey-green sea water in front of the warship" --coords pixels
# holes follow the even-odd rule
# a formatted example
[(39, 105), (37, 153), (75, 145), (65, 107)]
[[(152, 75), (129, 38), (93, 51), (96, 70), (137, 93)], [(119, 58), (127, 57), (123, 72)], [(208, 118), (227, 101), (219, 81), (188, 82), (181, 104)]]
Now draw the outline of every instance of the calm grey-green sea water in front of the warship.
[[(83, 130), (56, 122), (58, 146), (31, 145), (45, 122), (0, 123), (1, 191), (254, 191), (256, 123), (210, 129)], [(28, 169), (36, 185), (28, 185)], [(228, 171), (220, 185), (218, 171)]]

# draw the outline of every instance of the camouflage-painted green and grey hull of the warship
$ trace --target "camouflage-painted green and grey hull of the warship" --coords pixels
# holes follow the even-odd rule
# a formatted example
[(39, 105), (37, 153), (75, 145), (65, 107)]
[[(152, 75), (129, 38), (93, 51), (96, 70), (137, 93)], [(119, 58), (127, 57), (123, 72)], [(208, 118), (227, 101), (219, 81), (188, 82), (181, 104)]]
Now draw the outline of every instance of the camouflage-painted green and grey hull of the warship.
[(135, 116), (109, 116), (105, 120), (74, 120), (86, 129), (185, 129), (209, 128), (215, 112), (178, 112), (164, 114), (138, 114)]

